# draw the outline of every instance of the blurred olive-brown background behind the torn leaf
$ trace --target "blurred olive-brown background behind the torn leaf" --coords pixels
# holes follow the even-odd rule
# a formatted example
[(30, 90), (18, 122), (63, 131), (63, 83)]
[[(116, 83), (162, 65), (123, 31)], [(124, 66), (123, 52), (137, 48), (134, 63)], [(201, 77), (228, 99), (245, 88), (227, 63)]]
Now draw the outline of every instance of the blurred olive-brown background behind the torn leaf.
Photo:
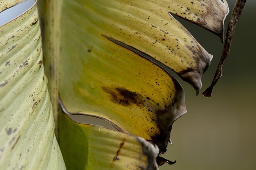
[[(230, 14), (235, 0), (228, 0)], [(223, 75), (214, 87), (211, 98), (202, 96), (208, 88), (219, 62), (223, 44), (212, 33), (177, 18), (212, 54), (210, 68), (202, 79), (201, 93), (175, 76), (186, 95), (188, 113), (174, 122), (172, 145), (163, 157), (177, 160), (160, 170), (255, 170), (256, 169), (256, 1), (248, 0), (238, 21), (230, 55), (224, 63)], [(1, 25), (1, 24), (0, 24)], [(254, 49), (255, 48), (255, 49)], [(76, 120), (81, 120), (80, 116)], [(86, 122), (106, 125), (93, 118)], [(108, 126), (109, 127), (109, 126)]]

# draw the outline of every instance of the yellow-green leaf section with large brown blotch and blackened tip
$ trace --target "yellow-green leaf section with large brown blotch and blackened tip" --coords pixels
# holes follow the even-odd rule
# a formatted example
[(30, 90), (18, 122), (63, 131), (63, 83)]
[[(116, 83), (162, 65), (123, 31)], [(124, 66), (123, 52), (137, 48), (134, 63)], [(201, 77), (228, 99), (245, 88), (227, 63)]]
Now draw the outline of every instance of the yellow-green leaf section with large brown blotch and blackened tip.
[(62, 109), (106, 119), (165, 152), (172, 123), (186, 112), (183, 88), (156, 64), (103, 37), (85, 6), (63, 5)]

